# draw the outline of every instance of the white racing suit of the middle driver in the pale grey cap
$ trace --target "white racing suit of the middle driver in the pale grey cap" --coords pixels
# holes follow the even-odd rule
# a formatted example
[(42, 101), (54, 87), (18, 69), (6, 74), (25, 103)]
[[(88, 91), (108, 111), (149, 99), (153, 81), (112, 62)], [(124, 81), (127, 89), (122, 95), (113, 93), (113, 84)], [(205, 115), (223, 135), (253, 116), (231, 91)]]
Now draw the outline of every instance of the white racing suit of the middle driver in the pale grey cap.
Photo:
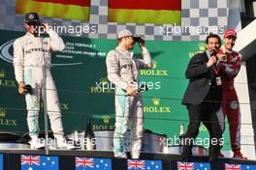
[(115, 85), (115, 129), (113, 153), (126, 157), (123, 139), (128, 125), (131, 128), (131, 156), (139, 158), (142, 148), (144, 112), (141, 95), (127, 96), (128, 84), (139, 85), (139, 70), (151, 68), (150, 54), (142, 48), (143, 59), (133, 58), (133, 53), (116, 47), (108, 53), (106, 64), (109, 80)]

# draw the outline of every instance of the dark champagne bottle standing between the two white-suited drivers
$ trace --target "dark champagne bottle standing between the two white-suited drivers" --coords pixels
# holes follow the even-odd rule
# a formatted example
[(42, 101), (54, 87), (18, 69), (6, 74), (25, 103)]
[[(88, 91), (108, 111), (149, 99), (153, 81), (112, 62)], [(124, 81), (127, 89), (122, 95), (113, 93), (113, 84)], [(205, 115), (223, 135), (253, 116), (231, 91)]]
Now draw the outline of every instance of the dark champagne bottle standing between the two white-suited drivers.
[(84, 149), (96, 150), (96, 139), (94, 132), (91, 129), (90, 117), (88, 118), (87, 127), (84, 133)]

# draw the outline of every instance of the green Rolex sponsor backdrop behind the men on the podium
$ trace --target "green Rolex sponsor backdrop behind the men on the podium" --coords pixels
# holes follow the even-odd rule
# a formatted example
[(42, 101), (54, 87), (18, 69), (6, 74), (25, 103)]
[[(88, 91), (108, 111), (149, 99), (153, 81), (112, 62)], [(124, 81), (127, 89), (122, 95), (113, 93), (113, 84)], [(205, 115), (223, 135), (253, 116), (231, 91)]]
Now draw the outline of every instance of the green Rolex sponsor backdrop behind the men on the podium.
[[(17, 95), (13, 69), (13, 42), (24, 33), (0, 31), (0, 128), (24, 134), (27, 131), (25, 100)], [(91, 117), (94, 130), (113, 129), (114, 94), (107, 79), (105, 59), (115, 47), (114, 40), (63, 37), (66, 49), (53, 53), (51, 69), (57, 87), (65, 132), (84, 130)], [(151, 70), (141, 71), (141, 83), (149, 90), (144, 98), (144, 128), (167, 134), (174, 144), (179, 126), (187, 128), (187, 111), (180, 104), (187, 87), (184, 77), (188, 61), (194, 52), (205, 49), (204, 42), (147, 41), (153, 60)], [(138, 44), (136, 57), (141, 57)], [(42, 103), (43, 110), (43, 103)], [(43, 112), (40, 115), (43, 129)], [(205, 127), (200, 136), (208, 137)], [(199, 141), (202, 144), (202, 141)], [(225, 135), (225, 142), (229, 143)], [(208, 143), (208, 141), (206, 141)]]

